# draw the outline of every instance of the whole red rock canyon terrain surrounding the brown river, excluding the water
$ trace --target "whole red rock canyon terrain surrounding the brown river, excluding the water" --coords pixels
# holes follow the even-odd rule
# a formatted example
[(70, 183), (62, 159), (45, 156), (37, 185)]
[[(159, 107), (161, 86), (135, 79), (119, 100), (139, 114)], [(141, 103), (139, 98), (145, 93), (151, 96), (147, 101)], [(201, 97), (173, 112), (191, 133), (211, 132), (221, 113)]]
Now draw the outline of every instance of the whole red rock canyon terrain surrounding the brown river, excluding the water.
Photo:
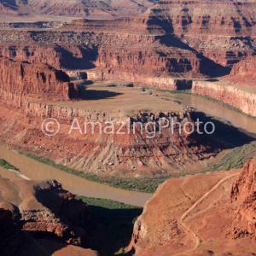
[[(232, 169), (255, 154), (253, 138), (170, 93), (253, 122), (254, 1), (0, 0), (0, 14), (3, 147), (106, 185), (165, 181), (119, 254), (254, 255), (256, 155)], [(0, 254), (98, 255), (85, 248), (108, 234), (93, 241), (104, 207), (90, 212), (55, 180), (0, 177), (0, 190)]]

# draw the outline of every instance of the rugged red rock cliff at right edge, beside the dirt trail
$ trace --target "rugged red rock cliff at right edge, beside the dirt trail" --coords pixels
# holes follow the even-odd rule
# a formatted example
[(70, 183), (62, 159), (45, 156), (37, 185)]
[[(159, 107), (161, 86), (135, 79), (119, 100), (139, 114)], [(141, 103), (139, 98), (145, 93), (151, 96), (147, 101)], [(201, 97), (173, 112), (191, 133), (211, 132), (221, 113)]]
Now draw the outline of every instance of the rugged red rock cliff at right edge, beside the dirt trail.
[(230, 198), (238, 205), (230, 235), (235, 239), (244, 236), (256, 239), (256, 155), (247, 162), (233, 183)]

